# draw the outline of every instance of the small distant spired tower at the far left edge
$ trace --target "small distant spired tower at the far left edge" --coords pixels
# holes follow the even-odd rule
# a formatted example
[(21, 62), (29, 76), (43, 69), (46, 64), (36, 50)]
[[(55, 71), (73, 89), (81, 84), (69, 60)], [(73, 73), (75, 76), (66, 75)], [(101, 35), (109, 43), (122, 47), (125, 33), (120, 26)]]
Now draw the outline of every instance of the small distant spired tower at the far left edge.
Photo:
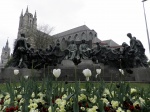
[(8, 40), (7, 40), (6, 45), (5, 47), (3, 47), (2, 54), (1, 54), (1, 66), (2, 67), (6, 65), (9, 58), (10, 58), (10, 48), (9, 48)]

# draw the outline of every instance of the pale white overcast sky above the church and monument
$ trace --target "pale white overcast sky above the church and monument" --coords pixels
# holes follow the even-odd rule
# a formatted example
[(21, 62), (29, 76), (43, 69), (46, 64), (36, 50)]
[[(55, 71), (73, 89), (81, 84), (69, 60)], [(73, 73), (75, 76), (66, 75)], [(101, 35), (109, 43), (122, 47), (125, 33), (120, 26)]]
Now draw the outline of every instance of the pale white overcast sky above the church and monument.
[[(150, 1), (145, 10), (150, 30)], [(101, 40), (127, 42), (127, 33), (141, 40), (150, 59), (141, 0), (0, 0), (0, 53), (7, 39), (11, 52), (17, 38), (21, 11), (37, 12), (37, 23), (54, 27), (52, 34), (81, 25), (94, 29)]]

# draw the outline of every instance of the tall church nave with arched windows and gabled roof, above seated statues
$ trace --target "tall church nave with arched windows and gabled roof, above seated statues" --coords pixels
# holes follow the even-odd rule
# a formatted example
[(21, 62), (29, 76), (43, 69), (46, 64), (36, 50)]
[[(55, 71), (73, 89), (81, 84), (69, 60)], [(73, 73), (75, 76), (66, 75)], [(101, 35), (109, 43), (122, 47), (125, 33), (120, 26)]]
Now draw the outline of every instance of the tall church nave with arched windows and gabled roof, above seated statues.
[(65, 49), (67, 47), (67, 43), (71, 42), (72, 40), (78, 43), (81, 40), (92, 42), (93, 39), (98, 39), (97, 33), (94, 30), (89, 29), (86, 25), (55, 34), (53, 35), (53, 38), (55, 43), (59, 42), (61, 44), (60, 46), (62, 49)]

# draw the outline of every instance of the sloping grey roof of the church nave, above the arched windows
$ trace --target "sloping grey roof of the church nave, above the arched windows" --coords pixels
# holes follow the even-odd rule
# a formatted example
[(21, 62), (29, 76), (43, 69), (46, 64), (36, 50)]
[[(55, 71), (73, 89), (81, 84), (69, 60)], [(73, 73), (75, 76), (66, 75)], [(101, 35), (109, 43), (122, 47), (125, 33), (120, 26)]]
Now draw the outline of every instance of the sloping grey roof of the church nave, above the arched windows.
[(85, 31), (85, 30), (90, 30), (86, 25), (82, 25), (82, 26), (79, 26), (79, 27), (76, 27), (76, 28), (73, 28), (73, 29), (70, 29), (70, 30), (67, 30), (67, 31), (64, 31), (64, 32), (61, 32), (61, 33), (58, 33), (56, 35), (53, 35), (54, 37), (63, 37), (65, 35), (70, 35), (72, 33), (75, 33), (75, 32), (80, 32), (80, 31)]

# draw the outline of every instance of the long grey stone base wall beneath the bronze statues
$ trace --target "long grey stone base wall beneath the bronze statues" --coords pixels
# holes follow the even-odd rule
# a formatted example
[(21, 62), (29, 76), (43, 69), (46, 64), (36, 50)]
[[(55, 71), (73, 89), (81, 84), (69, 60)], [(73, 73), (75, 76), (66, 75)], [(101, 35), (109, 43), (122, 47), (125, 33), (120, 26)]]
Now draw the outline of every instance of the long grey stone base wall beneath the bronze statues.
[[(136, 82), (150, 82), (150, 68), (134, 68), (133, 74), (129, 74), (125, 71), (125, 75), (121, 75), (118, 69), (111, 68), (109, 66), (104, 66), (103, 64), (93, 64), (91, 60), (84, 60), (78, 66), (75, 66), (74, 63), (70, 60), (63, 60), (62, 63), (58, 66), (49, 66), (41, 70), (31, 70), (31, 69), (20, 69), (19, 76), (28, 75), (29, 77), (37, 78), (42, 80), (43, 77), (54, 78), (52, 70), (60, 68), (61, 75), (58, 78), (60, 81), (75, 81), (75, 79), (80, 81), (85, 81), (85, 77), (82, 71), (86, 68), (92, 71), (92, 76), (90, 80), (98, 81), (101, 79), (105, 81), (136, 81)], [(101, 68), (102, 73), (96, 78), (96, 69)], [(10, 80), (19, 80), (18, 76), (14, 75), (14, 69), (16, 68), (5, 68), (0, 73), (0, 82), (6, 82)]]

